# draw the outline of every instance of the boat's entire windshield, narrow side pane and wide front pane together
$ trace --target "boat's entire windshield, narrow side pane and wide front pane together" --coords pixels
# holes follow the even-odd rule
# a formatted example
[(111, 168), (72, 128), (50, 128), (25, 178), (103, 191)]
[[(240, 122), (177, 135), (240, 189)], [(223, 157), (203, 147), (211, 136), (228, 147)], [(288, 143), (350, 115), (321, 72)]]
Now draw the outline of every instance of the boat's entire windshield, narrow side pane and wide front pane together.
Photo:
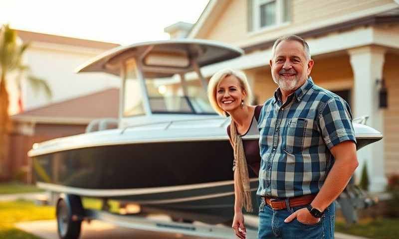
[[(136, 73), (137, 68), (132, 59), (126, 64), (124, 117), (145, 115), (146, 95), (151, 112), (154, 114), (216, 114), (209, 104), (196, 72), (175, 74), (172, 77), (159, 77), (162, 74), (154, 71), (143, 72), (146, 89), (143, 89), (143, 84)], [(182, 76), (184, 76), (183, 81)]]

